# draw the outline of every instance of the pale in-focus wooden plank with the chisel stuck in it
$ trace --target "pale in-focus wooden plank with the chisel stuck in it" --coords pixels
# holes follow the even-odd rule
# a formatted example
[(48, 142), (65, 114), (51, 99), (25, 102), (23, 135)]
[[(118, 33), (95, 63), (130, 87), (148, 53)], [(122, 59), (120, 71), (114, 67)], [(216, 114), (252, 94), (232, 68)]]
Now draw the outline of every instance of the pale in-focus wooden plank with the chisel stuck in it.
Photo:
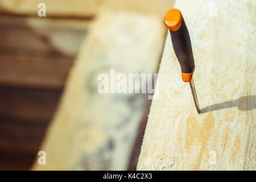
[(177, 1), (191, 36), (197, 114), (170, 34), (138, 170), (255, 170), (255, 1)]

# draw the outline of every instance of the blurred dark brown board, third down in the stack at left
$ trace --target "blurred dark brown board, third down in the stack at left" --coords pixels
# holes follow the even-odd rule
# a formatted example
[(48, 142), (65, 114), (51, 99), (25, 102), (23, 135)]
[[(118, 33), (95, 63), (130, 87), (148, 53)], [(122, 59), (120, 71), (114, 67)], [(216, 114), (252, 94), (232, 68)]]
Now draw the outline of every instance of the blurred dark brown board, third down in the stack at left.
[(60, 94), (60, 91), (1, 87), (0, 118), (20, 119), (32, 123), (49, 122)]

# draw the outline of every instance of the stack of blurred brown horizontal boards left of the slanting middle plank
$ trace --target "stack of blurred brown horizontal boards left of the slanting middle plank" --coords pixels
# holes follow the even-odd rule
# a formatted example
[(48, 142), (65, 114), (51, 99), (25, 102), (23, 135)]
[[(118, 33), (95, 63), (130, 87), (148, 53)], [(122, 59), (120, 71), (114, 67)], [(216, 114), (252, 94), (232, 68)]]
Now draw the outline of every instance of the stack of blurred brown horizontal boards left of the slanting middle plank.
[[(30, 168), (85, 32), (0, 16), (0, 170)], [(75, 51), (56, 47), (54, 34), (68, 36)]]

